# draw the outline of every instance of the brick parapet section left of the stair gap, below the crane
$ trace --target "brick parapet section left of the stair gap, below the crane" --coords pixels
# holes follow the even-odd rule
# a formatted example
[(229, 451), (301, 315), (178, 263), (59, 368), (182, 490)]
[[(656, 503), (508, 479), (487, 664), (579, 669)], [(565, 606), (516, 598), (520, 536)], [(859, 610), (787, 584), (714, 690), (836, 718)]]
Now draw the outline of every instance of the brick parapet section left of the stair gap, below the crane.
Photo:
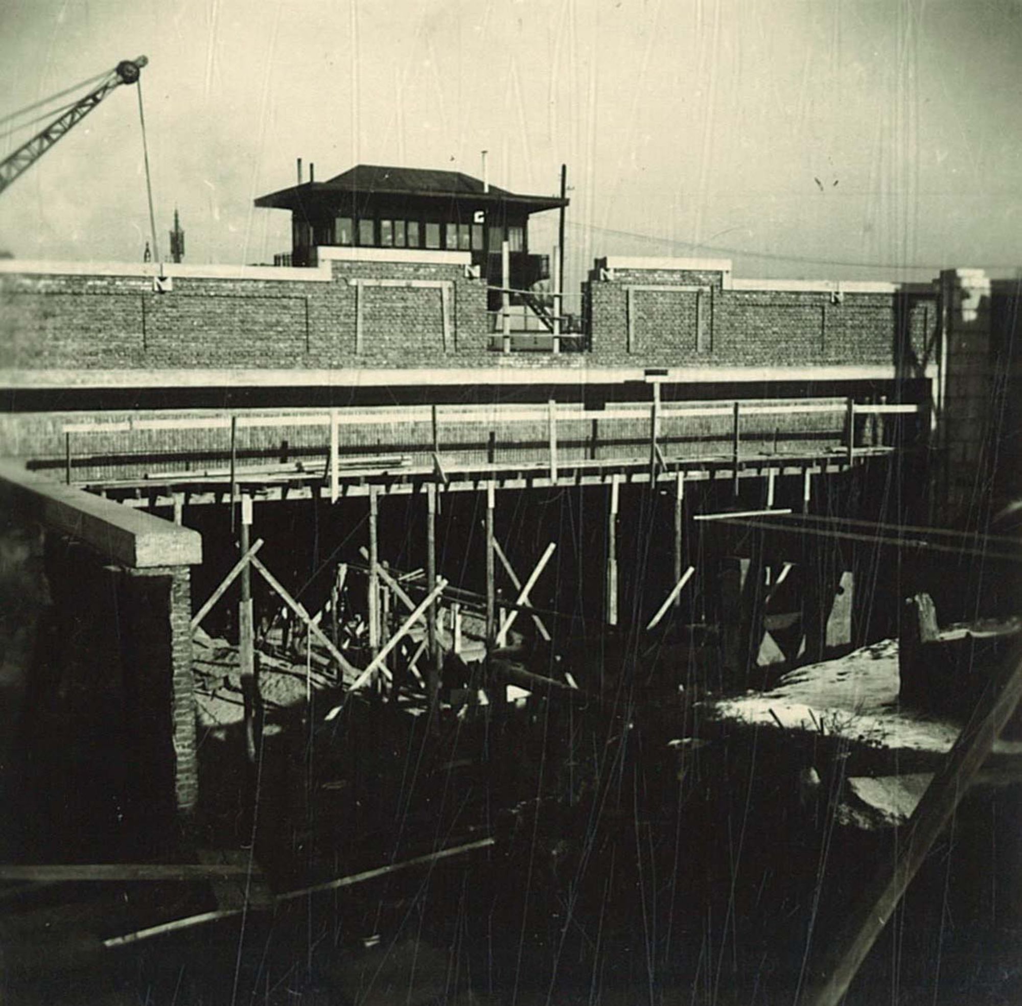
[(362, 288), (366, 337), (357, 354), (352, 280), (358, 279), (449, 284), (449, 355), (457, 353), (462, 366), (486, 355), (485, 287), (467, 278), (464, 266), (330, 262), (326, 268), (332, 270), (326, 282), (176, 276), (164, 293), (142, 275), (0, 274), (0, 367), (443, 365), (436, 287)]

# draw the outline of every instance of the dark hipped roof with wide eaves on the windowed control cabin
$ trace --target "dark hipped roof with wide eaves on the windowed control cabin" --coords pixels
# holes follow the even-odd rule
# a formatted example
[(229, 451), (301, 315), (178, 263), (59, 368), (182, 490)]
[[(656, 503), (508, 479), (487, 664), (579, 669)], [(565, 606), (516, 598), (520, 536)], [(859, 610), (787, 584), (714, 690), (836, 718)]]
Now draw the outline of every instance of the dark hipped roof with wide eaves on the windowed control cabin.
[(554, 195), (519, 195), (491, 185), (483, 191), (478, 178), (460, 171), (435, 171), (427, 168), (393, 168), (383, 165), (358, 165), (325, 182), (303, 182), (290, 188), (261, 195), (257, 207), (297, 210), (315, 199), (364, 199), (380, 196), (420, 196), (429, 199), (454, 199), (472, 202), (514, 203), (525, 213), (556, 210), (568, 204), (567, 199)]

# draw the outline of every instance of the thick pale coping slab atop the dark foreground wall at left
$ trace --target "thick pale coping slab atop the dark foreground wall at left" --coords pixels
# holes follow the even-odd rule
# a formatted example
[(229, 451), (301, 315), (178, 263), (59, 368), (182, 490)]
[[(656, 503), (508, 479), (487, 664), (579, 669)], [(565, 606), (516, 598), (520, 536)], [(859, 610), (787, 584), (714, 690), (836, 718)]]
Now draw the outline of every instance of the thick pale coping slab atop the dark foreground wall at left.
[(12, 504), (9, 512), (69, 535), (132, 569), (202, 561), (197, 531), (44, 478), (17, 461), (0, 460), (0, 495)]

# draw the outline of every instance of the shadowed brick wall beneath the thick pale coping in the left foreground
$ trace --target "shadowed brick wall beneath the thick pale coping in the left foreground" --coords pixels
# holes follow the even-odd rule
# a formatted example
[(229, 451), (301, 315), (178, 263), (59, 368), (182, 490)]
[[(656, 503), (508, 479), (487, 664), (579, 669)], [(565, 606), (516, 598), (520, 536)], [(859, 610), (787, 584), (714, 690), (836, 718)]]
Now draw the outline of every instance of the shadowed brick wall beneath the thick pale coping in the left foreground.
[(107, 565), (52, 534), (45, 570), (25, 841), (71, 859), (166, 854), (198, 795), (189, 570)]

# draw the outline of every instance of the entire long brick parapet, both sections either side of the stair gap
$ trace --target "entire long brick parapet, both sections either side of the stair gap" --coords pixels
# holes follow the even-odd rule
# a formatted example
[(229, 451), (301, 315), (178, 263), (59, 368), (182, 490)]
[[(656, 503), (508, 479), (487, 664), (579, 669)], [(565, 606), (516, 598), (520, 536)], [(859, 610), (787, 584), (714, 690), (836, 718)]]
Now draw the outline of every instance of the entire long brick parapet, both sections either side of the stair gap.
[(141, 274), (5, 266), (0, 368), (890, 365), (925, 358), (936, 324), (932, 294), (883, 284), (742, 288), (730, 264), (621, 261), (631, 265), (597, 268), (585, 285), (590, 352), (559, 358), (491, 352), (485, 286), (445, 253), (243, 278), (193, 270), (162, 293)]

